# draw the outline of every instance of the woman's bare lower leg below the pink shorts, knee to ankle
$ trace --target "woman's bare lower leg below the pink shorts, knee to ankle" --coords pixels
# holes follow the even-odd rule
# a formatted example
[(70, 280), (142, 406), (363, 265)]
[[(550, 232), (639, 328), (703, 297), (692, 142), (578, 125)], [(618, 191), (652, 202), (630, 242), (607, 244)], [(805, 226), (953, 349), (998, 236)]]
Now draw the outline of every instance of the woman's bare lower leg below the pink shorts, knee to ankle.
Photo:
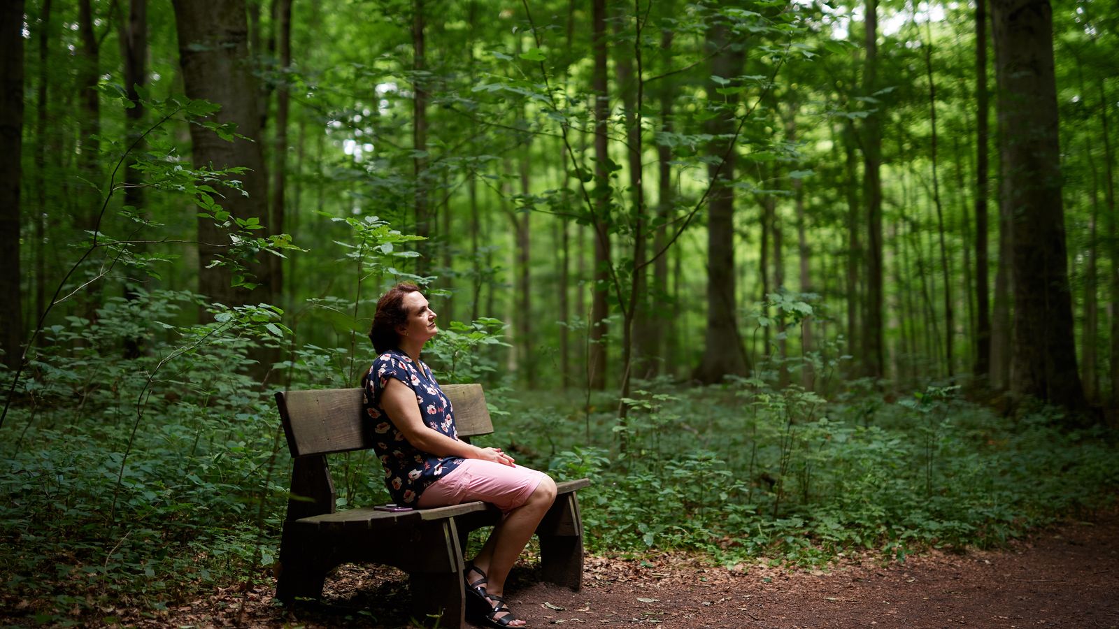
[[(556, 484), (551, 477), (545, 476), (540, 484), (536, 486), (528, 500), (509, 511), (493, 527), (489, 539), (474, 557), (474, 565), (483, 571), (487, 576), (486, 592), (497, 597), (505, 595), (505, 580), (509, 576), (513, 564), (517, 556), (525, 550), (528, 539), (536, 532), (536, 526), (544, 518), (544, 514), (552, 507), (556, 499)], [(504, 614), (499, 614), (500, 618)], [(524, 620), (510, 622), (510, 627), (520, 627)]]

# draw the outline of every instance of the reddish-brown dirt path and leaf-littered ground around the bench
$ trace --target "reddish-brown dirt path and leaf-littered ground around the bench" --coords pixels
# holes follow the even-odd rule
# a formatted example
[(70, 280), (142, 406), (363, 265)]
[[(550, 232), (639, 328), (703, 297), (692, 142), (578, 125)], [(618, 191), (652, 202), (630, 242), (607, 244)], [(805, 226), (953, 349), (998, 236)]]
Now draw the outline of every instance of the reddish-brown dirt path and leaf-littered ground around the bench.
[[(529, 627), (1119, 627), (1119, 518), (1070, 523), (1002, 551), (840, 557), (827, 571), (712, 567), (684, 555), (587, 557), (581, 592), (518, 567), (507, 589)], [(406, 627), (407, 588), (392, 569), (344, 566), (322, 604), (284, 609), (261, 586), (216, 592), (152, 627)]]

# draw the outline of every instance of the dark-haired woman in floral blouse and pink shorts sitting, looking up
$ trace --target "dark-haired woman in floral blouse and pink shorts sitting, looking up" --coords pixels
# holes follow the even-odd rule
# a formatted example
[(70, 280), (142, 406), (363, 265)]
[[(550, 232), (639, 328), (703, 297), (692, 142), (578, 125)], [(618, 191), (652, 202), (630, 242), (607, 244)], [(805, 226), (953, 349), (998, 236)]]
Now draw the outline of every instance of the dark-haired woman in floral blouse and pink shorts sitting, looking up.
[(524, 627), (505, 604), (505, 581), (555, 500), (556, 485), (500, 448), (459, 441), (451, 404), (420, 360), (436, 334), (435, 312), (414, 284), (397, 284), (377, 301), (369, 339), (378, 356), (363, 378), (365, 411), (378, 438), (374, 450), (398, 505), (482, 500), (501, 509), (505, 516), (463, 573), (467, 612), (487, 627)]

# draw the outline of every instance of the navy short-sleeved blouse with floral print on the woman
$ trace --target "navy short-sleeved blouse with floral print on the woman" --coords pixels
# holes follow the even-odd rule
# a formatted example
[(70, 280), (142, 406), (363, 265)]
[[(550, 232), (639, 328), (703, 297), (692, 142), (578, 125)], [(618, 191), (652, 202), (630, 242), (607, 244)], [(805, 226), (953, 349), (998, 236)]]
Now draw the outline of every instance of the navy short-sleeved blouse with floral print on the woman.
[(459, 467), (460, 457), (436, 457), (417, 450), (404, 439), (388, 414), (380, 407), (380, 394), (389, 378), (395, 378), (415, 392), (420, 414), (427, 428), (458, 439), (451, 402), (439, 388), (431, 368), (416, 364), (407, 354), (391, 349), (373, 362), (361, 378), (365, 388), (363, 406), (373, 426), (374, 452), (385, 468), (385, 486), (397, 505), (414, 505), (429, 485)]

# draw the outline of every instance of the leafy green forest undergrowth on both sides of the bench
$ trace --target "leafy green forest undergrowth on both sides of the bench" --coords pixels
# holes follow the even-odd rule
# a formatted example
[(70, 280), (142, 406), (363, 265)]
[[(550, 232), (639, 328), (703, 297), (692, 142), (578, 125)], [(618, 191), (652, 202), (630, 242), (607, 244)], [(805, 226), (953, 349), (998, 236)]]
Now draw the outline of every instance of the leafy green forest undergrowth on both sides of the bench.
[[(203, 303), (141, 292), (44, 331), (0, 444), (6, 614), (76, 623), (271, 579), (291, 469), (271, 394), (350, 386), (369, 356), (289, 345), (262, 389), (251, 350), (279, 350), (290, 330), (254, 309), (177, 322)], [(502, 382), (499, 328), (452, 325), (427, 358), (444, 383), (487, 384), (497, 432), (480, 443), (557, 479), (591, 478), (580, 500), (592, 553), (904, 561), (1089, 517), (1119, 486), (1103, 429), (1062, 430), (1045, 409), (1000, 416), (957, 387), (895, 400), (865, 381), (782, 387), (777, 372), (707, 387), (658, 379), (639, 383), (620, 421), (615, 394)], [(142, 355), (123, 358), (122, 338)], [(387, 501), (368, 453), (331, 464), (339, 508)]]

